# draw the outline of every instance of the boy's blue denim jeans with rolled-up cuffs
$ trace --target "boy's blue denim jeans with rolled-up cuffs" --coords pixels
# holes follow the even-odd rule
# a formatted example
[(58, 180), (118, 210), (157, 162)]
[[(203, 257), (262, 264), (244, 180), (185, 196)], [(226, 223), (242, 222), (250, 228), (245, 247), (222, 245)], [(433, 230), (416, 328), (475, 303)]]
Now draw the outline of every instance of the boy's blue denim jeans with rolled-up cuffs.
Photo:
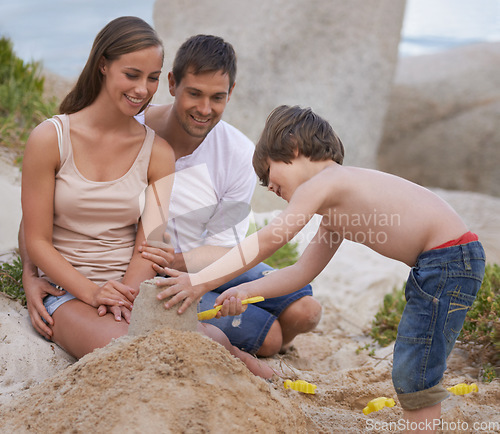
[(406, 282), (406, 307), (394, 346), (392, 381), (406, 410), (430, 407), (449, 394), (446, 359), (481, 287), (479, 241), (422, 253)]

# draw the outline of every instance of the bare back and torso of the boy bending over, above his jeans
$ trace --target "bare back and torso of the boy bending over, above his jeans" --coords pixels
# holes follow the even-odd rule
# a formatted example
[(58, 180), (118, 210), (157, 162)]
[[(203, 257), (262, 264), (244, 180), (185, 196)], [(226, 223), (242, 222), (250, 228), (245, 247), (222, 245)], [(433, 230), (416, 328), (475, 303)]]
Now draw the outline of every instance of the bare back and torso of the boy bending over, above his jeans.
[(311, 192), (321, 192), (314, 201), (315, 212), (323, 215), (321, 224), (332, 246), (345, 238), (413, 266), (420, 253), (468, 230), (445, 201), (417, 184), (376, 170), (329, 163), (297, 188), (302, 192), (296, 196), (310, 198)]

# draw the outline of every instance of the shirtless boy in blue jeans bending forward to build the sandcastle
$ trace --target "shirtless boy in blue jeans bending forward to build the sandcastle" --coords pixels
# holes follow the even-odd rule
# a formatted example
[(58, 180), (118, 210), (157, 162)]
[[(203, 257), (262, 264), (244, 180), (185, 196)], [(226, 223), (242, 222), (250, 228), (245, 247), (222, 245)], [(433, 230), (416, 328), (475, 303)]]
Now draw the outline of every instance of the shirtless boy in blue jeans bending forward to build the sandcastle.
[[(432, 423), (448, 396), (441, 386), (446, 359), (481, 286), (483, 248), (434, 193), (397, 176), (342, 166), (343, 157), (343, 145), (328, 122), (310, 109), (276, 108), (253, 164), (261, 182), (289, 202), (287, 208), (212, 266), (159, 283), (170, 285), (160, 298), (177, 294), (167, 307), (182, 299), (189, 304), (271, 255), (319, 214), (319, 229), (300, 259), (222, 293), (216, 300), (223, 304), (221, 313), (238, 314), (244, 298), (275, 297), (310, 282), (343, 239), (404, 262), (412, 269), (394, 348), (393, 383), (408, 421)], [(249, 256), (254, 258), (246, 264)]]

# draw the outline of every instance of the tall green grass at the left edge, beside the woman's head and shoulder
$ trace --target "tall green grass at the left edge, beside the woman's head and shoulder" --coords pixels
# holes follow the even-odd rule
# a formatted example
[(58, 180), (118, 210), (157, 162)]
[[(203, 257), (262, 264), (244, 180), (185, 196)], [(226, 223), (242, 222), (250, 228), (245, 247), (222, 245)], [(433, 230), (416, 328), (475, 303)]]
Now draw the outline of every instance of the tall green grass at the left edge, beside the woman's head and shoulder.
[(44, 77), (39, 62), (24, 62), (12, 42), (0, 38), (0, 146), (22, 161), (31, 130), (57, 112), (55, 98), (43, 97)]

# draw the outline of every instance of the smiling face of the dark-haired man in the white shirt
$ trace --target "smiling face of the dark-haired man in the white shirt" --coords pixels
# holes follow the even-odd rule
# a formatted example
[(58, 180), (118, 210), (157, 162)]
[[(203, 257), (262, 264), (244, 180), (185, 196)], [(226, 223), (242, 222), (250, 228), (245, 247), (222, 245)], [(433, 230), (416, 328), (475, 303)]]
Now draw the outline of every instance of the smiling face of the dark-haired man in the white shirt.
[(184, 131), (204, 139), (221, 120), (231, 97), (229, 75), (221, 71), (193, 74), (188, 70), (180, 83), (168, 76), (170, 94), (175, 97), (173, 110)]

